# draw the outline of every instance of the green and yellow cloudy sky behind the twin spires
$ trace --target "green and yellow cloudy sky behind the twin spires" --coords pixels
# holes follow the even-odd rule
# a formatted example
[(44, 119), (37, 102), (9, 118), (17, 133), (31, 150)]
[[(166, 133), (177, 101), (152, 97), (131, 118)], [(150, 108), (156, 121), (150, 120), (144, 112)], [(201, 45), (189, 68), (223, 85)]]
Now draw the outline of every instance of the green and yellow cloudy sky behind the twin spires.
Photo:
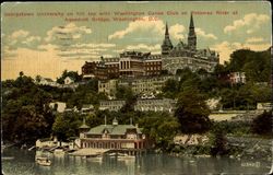
[[(5, 2), (1, 4), (1, 79), (81, 72), (85, 61), (124, 50), (161, 52), (165, 24), (174, 46), (187, 43), (190, 14), (198, 49), (219, 61), (271, 44), (271, 5), (250, 2)], [(119, 19), (119, 20), (117, 20)]]

